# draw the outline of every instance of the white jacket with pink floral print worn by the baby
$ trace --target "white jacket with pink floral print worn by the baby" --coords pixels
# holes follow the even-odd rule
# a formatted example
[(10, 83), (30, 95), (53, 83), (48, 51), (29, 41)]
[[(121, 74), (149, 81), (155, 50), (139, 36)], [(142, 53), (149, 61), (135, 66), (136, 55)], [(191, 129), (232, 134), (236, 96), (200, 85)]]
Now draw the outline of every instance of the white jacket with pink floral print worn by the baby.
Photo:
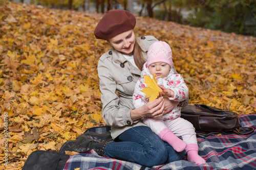
[[(149, 101), (149, 99), (146, 98), (146, 94), (141, 91), (143, 88), (148, 87), (144, 83), (143, 75), (148, 75), (153, 78), (153, 75), (150, 74), (150, 71), (148, 68), (146, 68), (145, 64), (141, 72), (141, 78), (137, 81), (133, 93), (133, 105), (135, 108), (139, 108)], [(169, 74), (165, 78), (156, 78), (156, 80), (158, 85), (174, 91), (174, 97), (169, 98), (169, 100), (181, 102), (188, 98), (188, 88), (184, 82), (184, 79), (181, 75), (175, 74), (173, 68), (169, 71)], [(175, 119), (180, 117), (180, 114), (180, 107), (176, 106), (173, 110), (163, 115), (162, 119)]]

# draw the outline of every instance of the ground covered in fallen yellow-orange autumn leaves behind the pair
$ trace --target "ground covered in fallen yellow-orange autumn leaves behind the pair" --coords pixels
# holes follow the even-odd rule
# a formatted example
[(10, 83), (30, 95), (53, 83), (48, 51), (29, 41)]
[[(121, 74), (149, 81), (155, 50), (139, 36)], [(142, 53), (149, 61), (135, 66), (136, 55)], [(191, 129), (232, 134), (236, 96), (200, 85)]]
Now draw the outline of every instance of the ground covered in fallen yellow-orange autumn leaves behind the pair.
[[(0, 2), (0, 157), (8, 112), (8, 166), (35, 150), (58, 152), (88, 128), (104, 126), (97, 62), (108, 44), (93, 31), (102, 14)], [(256, 114), (256, 38), (137, 16), (137, 36), (173, 50), (190, 104)]]

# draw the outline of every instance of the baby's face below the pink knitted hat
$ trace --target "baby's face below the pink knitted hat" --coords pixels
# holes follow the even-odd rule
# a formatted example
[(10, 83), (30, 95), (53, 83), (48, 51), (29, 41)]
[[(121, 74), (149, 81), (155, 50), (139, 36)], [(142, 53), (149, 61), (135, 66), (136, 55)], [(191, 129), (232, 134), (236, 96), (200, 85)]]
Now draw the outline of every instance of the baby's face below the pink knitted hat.
[(170, 66), (167, 63), (164, 62), (156, 62), (152, 63), (150, 66), (148, 66), (148, 70), (150, 70), (150, 74), (154, 75), (156, 74), (157, 78), (164, 78), (169, 74)]

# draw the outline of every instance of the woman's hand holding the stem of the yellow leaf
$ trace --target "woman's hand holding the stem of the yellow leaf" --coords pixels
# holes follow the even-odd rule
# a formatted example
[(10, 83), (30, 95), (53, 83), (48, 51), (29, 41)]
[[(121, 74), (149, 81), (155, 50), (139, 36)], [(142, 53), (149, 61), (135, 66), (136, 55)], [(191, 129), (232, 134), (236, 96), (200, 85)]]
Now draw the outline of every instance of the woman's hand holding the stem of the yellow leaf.
[[(167, 98), (168, 99), (168, 98)], [(164, 115), (164, 100), (163, 97), (154, 101), (148, 102), (140, 108), (131, 111), (132, 120), (137, 120), (141, 117), (158, 117)]]

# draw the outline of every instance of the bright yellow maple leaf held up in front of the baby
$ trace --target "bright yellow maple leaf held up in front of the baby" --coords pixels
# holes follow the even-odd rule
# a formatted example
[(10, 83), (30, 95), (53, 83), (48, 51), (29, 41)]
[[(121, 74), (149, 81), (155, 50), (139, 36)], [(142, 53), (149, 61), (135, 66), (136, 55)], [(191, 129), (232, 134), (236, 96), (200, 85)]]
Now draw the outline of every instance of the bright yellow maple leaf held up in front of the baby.
[(156, 75), (154, 74), (153, 79), (150, 76), (144, 75), (145, 84), (148, 87), (145, 87), (141, 91), (146, 94), (146, 98), (150, 98), (150, 102), (157, 99), (159, 92), (162, 90), (157, 85)]

